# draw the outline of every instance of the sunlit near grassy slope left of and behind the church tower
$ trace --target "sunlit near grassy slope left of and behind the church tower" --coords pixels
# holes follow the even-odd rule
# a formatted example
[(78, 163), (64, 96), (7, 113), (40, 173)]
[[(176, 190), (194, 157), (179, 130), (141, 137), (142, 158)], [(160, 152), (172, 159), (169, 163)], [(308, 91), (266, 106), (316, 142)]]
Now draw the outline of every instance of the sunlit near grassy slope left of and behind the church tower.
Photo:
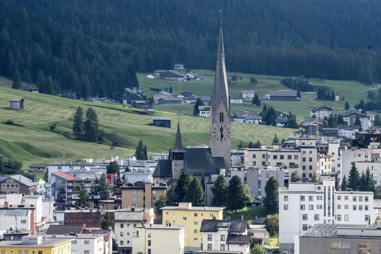
[[(8, 100), (21, 97), (25, 100), (24, 109), (10, 110)], [(111, 155), (125, 158), (134, 153), (140, 139), (146, 143), (149, 152), (168, 151), (174, 143), (178, 118), (184, 145), (208, 143), (208, 119), (200, 117), (178, 117), (171, 113), (155, 112), (155, 116), (173, 117), (172, 128), (163, 128), (152, 126), (152, 116), (140, 114), (144, 111), (122, 108), (120, 105), (70, 100), (5, 87), (0, 87), (0, 99), (0, 151), (5, 158), (22, 161), (24, 168), (37, 162), (82, 161), (83, 158), (99, 159)], [(89, 105), (98, 114), (100, 128), (106, 133), (118, 131), (116, 139), (122, 147), (111, 151), (108, 141), (104, 145), (86, 143), (48, 130), (49, 125), (55, 123), (56, 130), (70, 133), (76, 108), (81, 106), (86, 110)], [(25, 127), (1, 123), (7, 120)], [(233, 123), (232, 130), (233, 148), (240, 140), (247, 143), (259, 138), (262, 143), (269, 144), (275, 133), (282, 138), (295, 131), (240, 123)]]

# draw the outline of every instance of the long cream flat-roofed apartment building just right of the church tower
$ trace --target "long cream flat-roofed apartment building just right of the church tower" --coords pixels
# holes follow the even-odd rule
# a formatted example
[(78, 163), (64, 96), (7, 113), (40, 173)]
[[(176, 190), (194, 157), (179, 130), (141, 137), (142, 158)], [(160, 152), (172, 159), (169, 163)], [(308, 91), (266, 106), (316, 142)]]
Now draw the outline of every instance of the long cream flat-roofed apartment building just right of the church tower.
[(296, 147), (282, 148), (281, 144), (274, 144), (273, 148), (245, 148), (244, 166), (264, 167), (300, 167), (304, 182), (311, 180), (317, 171), (317, 148), (314, 138), (296, 138)]

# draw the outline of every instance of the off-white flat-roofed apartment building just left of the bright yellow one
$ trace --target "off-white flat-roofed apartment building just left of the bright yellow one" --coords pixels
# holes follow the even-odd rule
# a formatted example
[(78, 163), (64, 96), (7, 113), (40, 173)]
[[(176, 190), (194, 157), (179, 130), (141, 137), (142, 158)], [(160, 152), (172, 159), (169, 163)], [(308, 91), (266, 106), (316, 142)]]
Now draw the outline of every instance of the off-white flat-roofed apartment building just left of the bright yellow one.
[(115, 238), (120, 252), (132, 253), (132, 236), (136, 235), (136, 227), (144, 223), (154, 223), (154, 209), (131, 207), (114, 212)]

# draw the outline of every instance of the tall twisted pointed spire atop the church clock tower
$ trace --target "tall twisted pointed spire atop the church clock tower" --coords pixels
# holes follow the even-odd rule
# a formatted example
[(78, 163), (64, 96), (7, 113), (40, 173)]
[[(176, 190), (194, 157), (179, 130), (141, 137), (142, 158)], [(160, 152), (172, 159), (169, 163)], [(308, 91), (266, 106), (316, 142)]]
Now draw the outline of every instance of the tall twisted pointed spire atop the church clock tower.
[(216, 110), (220, 101), (223, 101), (226, 111), (230, 114), (229, 108), (229, 92), (227, 89), (227, 77), (226, 77), (226, 67), (225, 67), (225, 53), (224, 53), (224, 42), (222, 36), (222, 18), (220, 18), (219, 26), (219, 36), (218, 36), (218, 50), (217, 50), (217, 63), (216, 63), (216, 73), (215, 80), (213, 84), (212, 102), (211, 102), (211, 112), (212, 117), (215, 117)]

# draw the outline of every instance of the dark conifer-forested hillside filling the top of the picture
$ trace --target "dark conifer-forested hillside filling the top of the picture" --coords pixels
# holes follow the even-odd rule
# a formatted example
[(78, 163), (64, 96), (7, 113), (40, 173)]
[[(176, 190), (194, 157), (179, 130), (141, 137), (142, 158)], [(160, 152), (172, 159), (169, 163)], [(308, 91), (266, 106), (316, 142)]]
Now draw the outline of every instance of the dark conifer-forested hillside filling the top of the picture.
[(86, 97), (136, 71), (213, 69), (220, 9), (229, 71), (381, 80), (378, 0), (0, 0), (0, 74)]

